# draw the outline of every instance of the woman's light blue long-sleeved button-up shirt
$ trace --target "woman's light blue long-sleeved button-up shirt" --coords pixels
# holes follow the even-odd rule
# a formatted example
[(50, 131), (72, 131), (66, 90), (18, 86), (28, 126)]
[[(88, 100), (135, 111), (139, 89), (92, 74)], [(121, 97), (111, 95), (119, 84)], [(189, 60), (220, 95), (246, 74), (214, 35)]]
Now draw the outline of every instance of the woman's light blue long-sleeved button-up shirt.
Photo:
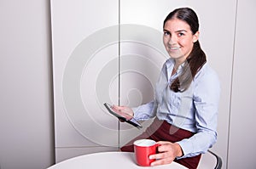
[(195, 132), (191, 138), (179, 142), (181, 158), (205, 153), (217, 140), (217, 116), (220, 85), (214, 70), (205, 64), (183, 93), (173, 92), (170, 85), (181, 73), (183, 65), (172, 75), (174, 59), (167, 59), (155, 86), (154, 100), (133, 108), (134, 118), (145, 121), (157, 116), (160, 120)]

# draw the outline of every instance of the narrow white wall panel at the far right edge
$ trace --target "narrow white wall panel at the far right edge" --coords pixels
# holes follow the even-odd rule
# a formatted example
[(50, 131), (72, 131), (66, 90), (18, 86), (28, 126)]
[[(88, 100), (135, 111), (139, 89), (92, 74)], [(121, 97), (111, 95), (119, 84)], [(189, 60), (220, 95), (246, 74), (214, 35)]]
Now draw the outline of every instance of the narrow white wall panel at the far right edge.
[(228, 168), (256, 167), (255, 7), (254, 0), (238, 1)]

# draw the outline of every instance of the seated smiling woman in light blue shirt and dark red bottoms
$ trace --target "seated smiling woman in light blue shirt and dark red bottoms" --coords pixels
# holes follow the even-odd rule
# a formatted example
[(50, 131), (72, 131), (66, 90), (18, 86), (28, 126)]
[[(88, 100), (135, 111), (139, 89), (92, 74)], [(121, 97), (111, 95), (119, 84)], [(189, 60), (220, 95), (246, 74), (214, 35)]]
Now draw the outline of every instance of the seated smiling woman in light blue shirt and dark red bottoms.
[(151, 166), (176, 161), (196, 168), (201, 154), (217, 139), (219, 99), (218, 76), (207, 65), (199, 37), (199, 22), (191, 8), (177, 8), (164, 20), (163, 42), (170, 59), (163, 65), (155, 87), (154, 100), (137, 108), (114, 105), (117, 113), (138, 121), (153, 118), (142, 135), (121, 148), (133, 151), (132, 143), (140, 138), (158, 141), (157, 159)]

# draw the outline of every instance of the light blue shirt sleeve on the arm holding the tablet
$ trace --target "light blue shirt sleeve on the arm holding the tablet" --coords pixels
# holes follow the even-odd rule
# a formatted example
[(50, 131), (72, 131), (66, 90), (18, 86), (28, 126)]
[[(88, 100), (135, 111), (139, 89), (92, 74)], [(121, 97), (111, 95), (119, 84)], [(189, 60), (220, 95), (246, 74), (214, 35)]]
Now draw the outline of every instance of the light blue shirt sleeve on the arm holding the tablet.
[(148, 104), (142, 104), (136, 108), (132, 108), (134, 112), (134, 118), (137, 121), (146, 121), (155, 116), (155, 104), (154, 100), (148, 102)]

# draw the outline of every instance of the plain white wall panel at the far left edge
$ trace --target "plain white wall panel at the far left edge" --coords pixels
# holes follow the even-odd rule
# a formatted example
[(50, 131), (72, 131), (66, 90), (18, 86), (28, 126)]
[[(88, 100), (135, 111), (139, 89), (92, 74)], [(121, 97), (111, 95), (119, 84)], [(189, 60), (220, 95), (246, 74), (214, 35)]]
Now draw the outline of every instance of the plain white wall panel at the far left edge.
[(49, 2), (0, 2), (0, 168), (54, 163)]

